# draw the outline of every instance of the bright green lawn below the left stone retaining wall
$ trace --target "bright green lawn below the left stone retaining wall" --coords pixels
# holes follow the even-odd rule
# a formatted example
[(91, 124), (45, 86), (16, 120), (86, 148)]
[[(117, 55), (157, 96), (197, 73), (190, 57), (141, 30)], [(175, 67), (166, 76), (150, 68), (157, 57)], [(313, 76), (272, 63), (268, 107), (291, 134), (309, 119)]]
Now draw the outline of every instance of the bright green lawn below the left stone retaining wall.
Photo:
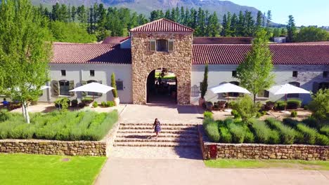
[(93, 184), (105, 160), (105, 157), (0, 154), (0, 184)]

